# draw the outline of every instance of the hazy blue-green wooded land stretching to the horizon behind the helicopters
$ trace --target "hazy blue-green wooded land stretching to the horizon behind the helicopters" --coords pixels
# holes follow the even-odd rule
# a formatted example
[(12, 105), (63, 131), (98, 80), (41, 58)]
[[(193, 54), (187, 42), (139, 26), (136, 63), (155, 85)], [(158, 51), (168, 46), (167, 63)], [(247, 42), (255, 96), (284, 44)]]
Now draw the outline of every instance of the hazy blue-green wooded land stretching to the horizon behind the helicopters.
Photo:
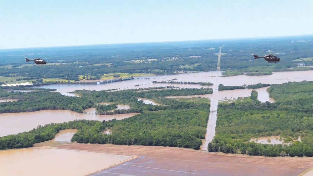
[[(237, 41), (184, 41), (168, 43), (141, 43), (123, 45), (98, 45), (81, 47), (36, 48), (35, 53), (45, 53), (48, 63), (41, 66), (20, 67), (26, 63), (16, 59), (31, 49), (3, 51), (0, 55), (0, 76), (25, 76), (37, 78), (62, 78), (79, 81), (100, 79), (106, 73), (154, 73), (177, 74), (215, 71), (218, 48), (223, 45), (220, 69), (224, 76), (267, 74), (273, 71), (311, 70), (297, 67), (297, 63), (313, 66), (311, 60), (296, 60), (312, 57), (311, 36), (267, 38)], [(264, 59), (254, 59), (251, 53), (268, 53), (270, 48), (283, 53), (281, 62), (270, 64)], [(192, 56), (199, 56), (191, 58)], [(35, 56), (39, 57), (39, 56)], [(294, 61), (295, 60), (295, 61)], [(29, 65), (29, 64), (28, 64)], [(292, 68), (292, 69), (290, 69)], [(116, 75), (117, 77), (118, 75)]]

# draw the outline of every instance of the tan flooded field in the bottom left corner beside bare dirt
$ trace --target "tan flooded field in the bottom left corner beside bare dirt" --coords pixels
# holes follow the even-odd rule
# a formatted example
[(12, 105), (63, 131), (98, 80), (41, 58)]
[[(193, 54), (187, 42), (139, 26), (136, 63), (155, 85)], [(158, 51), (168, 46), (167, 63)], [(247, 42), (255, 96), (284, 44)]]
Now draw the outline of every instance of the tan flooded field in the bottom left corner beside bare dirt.
[(0, 175), (87, 175), (132, 156), (59, 148), (0, 151)]

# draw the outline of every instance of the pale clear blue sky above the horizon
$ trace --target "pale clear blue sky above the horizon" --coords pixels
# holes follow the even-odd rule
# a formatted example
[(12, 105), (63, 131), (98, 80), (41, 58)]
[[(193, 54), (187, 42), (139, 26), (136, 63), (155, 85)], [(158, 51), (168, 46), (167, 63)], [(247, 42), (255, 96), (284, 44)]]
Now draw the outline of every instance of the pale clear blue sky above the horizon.
[(1, 0), (0, 49), (313, 34), (311, 0)]

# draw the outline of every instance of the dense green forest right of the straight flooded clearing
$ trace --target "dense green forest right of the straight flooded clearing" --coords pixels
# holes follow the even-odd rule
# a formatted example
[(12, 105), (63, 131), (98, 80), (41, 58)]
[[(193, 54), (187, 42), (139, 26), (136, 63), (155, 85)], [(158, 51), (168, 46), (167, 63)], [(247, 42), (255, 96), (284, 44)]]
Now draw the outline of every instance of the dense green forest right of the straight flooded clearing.
[[(289, 82), (268, 89), (275, 103), (261, 103), (258, 93), (219, 103), (216, 135), (210, 152), (264, 156), (313, 156), (313, 82)], [(285, 144), (249, 142), (251, 138), (280, 136)], [(300, 141), (294, 141), (298, 138)]]

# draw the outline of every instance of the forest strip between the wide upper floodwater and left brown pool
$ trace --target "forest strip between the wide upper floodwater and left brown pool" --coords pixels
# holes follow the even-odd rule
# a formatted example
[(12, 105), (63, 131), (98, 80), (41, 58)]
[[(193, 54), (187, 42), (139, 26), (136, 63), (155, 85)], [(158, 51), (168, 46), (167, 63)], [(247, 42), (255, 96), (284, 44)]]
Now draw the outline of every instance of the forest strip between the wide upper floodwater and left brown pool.
[(106, 114), (112, 113), (141, 113), (143, 110), (160, 110), (163, 106), (153, 106), (138, 101), (137, 98), (152, 98), (158, 101), (158, 97), (162, 96), (179, 96), (179, 95), (202, 95), (212, 93), (212, 88), (180, 88), (180, 89), (148, 89), (148, 91), (140, 92), (141, 89), (129, 89), (110, 92), (110, 90), (103, 91), (75, 91), (80, 97), (68, 97), (58, 92), (47, 92), (49, 90), (35, 90), (32, 92), (7, 92), (0, 89), (0, 97), (2, 99), (18, 99), (13, 102), (0, 103), (0, 113), (18, 113), (18, 112), (32, 112), (44, 109), (67, 109), (83, 113), (85, 109), (97, 107), (97, 103), (101, 102), (115, 102), (121, 104), (129, 104), (130, 109), (118, 110), (114, 112), (103, 112)]

